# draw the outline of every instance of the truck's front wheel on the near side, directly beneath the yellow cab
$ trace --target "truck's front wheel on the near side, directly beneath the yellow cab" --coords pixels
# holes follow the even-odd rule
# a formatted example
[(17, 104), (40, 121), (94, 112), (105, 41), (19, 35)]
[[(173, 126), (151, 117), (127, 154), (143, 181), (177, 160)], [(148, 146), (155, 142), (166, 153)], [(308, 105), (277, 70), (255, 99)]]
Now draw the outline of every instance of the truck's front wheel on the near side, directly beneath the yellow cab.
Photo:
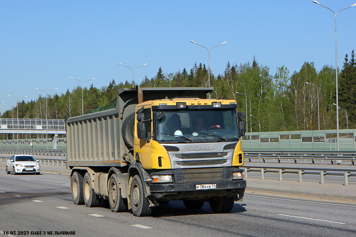
[(135, 175), (130, 187), (131, 209), (134, 216), (151, 216), (152, 208), (148, 202), (141, 178)]

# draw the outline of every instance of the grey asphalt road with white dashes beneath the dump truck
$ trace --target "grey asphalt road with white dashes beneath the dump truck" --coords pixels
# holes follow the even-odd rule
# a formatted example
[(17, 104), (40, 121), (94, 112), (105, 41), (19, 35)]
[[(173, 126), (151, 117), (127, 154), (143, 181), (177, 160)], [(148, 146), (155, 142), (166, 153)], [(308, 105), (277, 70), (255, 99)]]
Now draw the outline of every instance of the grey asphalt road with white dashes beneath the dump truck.
[(62, 236), (73, 232), (75, 236), (140, 237), (356, 236), (355, 205), (251, 193), (228, 214), (213, 213), (208, 203), (188, 210), (182, 201), (171, 201), (157, 207), (152, 217), (135, 217), (109, 208), (74, 205), (67, 175), (14, 176), (1, 171), (0, 233), (5, 231), (4, 236), (49, 236), (47, 231), (68, 233)]

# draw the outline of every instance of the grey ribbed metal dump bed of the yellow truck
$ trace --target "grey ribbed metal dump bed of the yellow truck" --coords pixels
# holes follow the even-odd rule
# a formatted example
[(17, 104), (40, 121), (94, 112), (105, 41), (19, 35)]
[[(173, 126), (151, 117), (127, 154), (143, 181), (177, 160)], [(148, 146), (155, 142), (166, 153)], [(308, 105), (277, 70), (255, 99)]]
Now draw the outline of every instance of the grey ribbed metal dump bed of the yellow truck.
[[(174, 98), (206, 98), (213, 88), (174, 87), (141, 88), (143, 101)], [(136, 88), (120, 88), (115, 108), (72, 117), (66, 121), (67, 168), (73, 166), (126, 166), (124, 158), (132, 156), (121, 136), (125, 118), (135, 112)]]

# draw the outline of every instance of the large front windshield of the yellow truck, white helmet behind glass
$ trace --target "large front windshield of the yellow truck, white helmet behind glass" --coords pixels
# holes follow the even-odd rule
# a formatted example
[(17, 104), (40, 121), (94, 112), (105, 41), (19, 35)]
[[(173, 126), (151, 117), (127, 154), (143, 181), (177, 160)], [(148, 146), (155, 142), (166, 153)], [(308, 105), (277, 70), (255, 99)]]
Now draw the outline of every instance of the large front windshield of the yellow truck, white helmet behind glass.
[[(238, 141), (235, 109), (183, 109), (155, 111), (158, 142)], [(159, 116), (158, 116), (159, 115)]]

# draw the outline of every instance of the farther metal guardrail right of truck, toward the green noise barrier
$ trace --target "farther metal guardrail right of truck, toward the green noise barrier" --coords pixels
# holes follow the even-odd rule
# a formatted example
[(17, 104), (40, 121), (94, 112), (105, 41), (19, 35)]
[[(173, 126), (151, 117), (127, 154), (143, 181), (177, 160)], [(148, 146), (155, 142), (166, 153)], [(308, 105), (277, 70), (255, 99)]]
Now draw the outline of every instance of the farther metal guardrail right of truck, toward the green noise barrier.
[[(311, 164), (316, 164), (320, 160), (320, 164), (335, 165), (344, 163), (345, 165), (355, 165), (356, 152), (355, 151), (245, 151), (245, 162), (252, 162), (257, 160), (259, 163), (293, 163), (297, 164), (298, 161), (304, 161), (304, 164), (310, 160)], [(288, 162), (283, 162), (288, 160)], [(256, 162), (256, 161), (255, 161)], [(299, 162), (300, 163), (300, 162)]]

